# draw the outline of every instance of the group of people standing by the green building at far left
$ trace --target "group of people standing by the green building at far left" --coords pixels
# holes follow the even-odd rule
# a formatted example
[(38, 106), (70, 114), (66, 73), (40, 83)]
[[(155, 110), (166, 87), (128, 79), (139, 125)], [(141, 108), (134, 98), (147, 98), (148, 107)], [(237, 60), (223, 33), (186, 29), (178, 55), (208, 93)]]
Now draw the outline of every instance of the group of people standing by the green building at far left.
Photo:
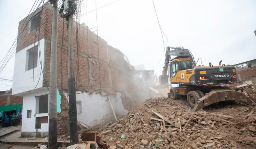
[(3, 118), (0, 114), (0, 127), (20, 125), (21, 119), (22, 118), (20, 118), (20, 116), (15, 113), (10, 116), (6, 115), (5, 118)]

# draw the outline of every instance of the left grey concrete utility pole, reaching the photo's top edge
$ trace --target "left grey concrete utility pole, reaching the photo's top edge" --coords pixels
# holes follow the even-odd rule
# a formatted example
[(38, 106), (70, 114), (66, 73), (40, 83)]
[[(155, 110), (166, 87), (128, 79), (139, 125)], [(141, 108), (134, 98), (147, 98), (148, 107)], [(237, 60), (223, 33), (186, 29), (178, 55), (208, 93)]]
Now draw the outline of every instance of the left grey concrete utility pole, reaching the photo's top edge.
[(52, 0), (52, 40), (51, 40), (51, 62), (50, 62), (50, 98), (49, 98), (49, 139), (48, 146), (57, 149), (57, 39), (58, 39), (58, 1)]

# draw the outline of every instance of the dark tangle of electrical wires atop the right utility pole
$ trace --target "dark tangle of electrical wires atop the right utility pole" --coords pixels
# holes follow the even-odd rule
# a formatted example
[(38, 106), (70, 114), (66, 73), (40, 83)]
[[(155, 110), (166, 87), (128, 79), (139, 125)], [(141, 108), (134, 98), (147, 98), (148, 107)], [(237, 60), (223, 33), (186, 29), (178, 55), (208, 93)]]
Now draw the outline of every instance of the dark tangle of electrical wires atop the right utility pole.
[(74, 0), (68, 0), (68, 6), (69, 8), (66, 11), (64, 11), (64, 3), (60, 7), (60, 17), (66, 18), (66, 20), (68, 20), (68, 17), (74, 14), (74, 12), (76, 11), (76, 3), (74, 2)]

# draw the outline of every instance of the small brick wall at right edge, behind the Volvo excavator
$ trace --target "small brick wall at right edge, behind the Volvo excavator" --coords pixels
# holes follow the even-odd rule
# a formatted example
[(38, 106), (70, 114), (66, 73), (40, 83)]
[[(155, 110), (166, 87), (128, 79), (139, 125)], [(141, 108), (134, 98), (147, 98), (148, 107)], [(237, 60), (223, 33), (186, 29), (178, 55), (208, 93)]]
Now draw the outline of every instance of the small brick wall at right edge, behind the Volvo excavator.
[(256, 76), (256, 67), (250, 67), (250, 68), (246, 68), (246, 69), (242, 69), (242, 70), (236, 70), (236, 74), (237, 74), (238, 82), (250, 80), (252, 76)]

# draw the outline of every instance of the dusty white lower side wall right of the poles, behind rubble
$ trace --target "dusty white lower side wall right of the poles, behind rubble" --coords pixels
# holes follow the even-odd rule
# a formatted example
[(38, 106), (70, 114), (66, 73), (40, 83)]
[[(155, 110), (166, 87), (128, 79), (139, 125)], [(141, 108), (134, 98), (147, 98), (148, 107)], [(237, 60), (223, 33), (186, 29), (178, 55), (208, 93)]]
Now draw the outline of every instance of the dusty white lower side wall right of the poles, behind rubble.
[[(110, 94), (109, 98), (118, 118), (121, 118), (128, 113), (122, 105), (120, 93)], [(106, 120), (106, 122), (114, 120), (107, 96), (102, 96), (101, 94), (78, 93), (76, 94), (76, 100), (82, 104), (82, 113), (78, 114), (78, 121), (92, 126), (104, 120)]]

